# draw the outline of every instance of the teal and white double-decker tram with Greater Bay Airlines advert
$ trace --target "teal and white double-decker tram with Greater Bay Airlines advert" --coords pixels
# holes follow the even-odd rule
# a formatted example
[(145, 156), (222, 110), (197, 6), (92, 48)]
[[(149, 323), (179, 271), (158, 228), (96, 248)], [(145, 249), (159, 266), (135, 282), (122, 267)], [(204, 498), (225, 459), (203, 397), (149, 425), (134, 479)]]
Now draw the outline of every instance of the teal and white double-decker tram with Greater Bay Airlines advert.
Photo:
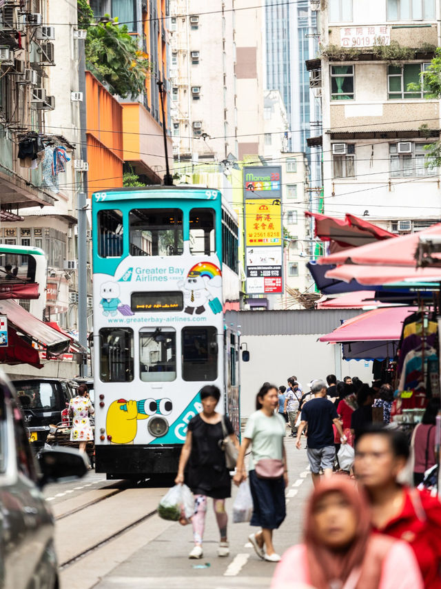
[(240, 429), (238, 224), (196, 186), (92, 195), (96, 472), (175, 473), (199, 392)]

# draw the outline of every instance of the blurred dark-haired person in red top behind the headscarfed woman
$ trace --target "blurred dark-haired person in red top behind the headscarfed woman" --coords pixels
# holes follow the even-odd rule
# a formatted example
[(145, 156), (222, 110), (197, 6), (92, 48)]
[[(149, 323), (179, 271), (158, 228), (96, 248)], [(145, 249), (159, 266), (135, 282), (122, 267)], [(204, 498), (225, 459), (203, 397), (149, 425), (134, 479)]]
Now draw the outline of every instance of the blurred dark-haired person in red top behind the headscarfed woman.
[(397, 482), (409, 458), (402, 432), (371, 427), (356, 439), (353, 469), (367, 491), (378, 532), (407, 541), (426, 589), (441, 589), (441, 503), (427, 491)]

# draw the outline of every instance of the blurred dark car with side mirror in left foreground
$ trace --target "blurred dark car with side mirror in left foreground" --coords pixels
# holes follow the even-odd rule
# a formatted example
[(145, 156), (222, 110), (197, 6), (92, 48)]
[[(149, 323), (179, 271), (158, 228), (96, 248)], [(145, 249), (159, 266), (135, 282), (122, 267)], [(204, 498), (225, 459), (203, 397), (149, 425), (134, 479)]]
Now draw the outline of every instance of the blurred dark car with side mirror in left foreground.
[(83, 476), (88, 465), (75, 450), (42, 450), (34, 458), (19, 397), (0, 372), (0, 587), (57, 589), (54, 518), (41, 488)]

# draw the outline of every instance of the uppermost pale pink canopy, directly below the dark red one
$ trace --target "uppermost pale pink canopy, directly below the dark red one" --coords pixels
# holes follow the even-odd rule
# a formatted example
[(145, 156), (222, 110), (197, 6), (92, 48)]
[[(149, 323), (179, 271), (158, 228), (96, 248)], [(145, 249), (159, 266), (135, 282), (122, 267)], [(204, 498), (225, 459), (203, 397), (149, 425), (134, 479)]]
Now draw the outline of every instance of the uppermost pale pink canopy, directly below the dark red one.
[[(338, 253), (319, 258), (319, 264), (365, 264), (372, 266), (416, 267), (415, 253), (420, 235), (441, 237), (441, 223), (418, 233), (410, 233), (400, 238), (387, 239), (375, 243), (353, 247)], [(366, 282), (364, 283), (366, 284)], [(371, 283), (372, 284), (372, 283)], [(377, 284), (379, 284), (377, 282)]]

